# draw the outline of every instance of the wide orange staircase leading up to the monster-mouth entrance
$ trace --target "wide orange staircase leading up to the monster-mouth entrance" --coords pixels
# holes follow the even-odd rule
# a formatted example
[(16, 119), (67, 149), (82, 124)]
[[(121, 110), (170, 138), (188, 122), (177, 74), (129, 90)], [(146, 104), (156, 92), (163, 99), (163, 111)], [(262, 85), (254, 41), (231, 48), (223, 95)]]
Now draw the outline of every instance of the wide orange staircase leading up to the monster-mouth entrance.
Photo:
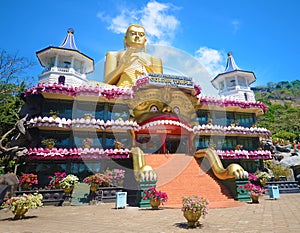
[(157, 189), (167, 193), (169, 200), (164, 207), (181, 208), (183, 196), (203, 196), (209, 208), (241, 206), (245, 203), (233, 199), (224, 185), (197, 160), (185, 154), (146, 154), (146, 164), (158, 175)]

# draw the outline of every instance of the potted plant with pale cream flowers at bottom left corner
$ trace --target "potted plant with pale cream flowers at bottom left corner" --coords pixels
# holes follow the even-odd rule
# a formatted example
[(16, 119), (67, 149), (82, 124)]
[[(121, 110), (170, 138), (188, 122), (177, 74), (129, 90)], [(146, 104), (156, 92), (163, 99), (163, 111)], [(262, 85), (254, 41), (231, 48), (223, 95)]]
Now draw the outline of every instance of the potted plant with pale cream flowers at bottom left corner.
[(20, 197), (9, 198), (1, 207), (11, 210), (14, 214), (14, 219), (21, 219), (24, 218), (28, 210), (43, 206), (42, 199), (42, 194), (23, 194)]

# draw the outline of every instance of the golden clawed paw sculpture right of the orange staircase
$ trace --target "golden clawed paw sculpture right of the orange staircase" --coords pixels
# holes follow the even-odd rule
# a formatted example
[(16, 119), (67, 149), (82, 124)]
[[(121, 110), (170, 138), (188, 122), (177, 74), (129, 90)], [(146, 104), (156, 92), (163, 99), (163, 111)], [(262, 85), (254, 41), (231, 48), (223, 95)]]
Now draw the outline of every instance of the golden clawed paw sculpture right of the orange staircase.
[(211, 148), (198, 150), (195, 152), (194, 156), (196, 158), (206, 157), (215, 176), (220, 180), (248, 178), (248, 172), (239, 164), (232, 163), (225, 169), (216, 151)]

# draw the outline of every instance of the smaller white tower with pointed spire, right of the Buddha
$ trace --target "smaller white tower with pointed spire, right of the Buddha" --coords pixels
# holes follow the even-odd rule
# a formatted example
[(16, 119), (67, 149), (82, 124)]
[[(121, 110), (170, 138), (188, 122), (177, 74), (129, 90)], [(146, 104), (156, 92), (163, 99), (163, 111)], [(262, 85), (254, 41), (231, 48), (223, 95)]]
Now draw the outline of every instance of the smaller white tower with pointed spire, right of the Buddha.
[(250, 89), (250, 84), (255, 80), (254, 73), (241, 70), (229, 52), (225, 72), (218, 74), (211, 82), (221, 96), (241, 101), (255, 101), (254, 92)]

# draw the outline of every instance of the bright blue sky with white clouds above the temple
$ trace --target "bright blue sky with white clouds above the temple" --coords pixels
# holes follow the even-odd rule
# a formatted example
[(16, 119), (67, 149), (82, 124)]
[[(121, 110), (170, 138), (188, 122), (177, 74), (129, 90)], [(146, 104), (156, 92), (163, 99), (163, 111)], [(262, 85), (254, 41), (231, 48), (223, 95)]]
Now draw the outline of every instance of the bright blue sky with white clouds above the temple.
[(36, 51), (59, 46), (68, 28), (78, 49), (101, 64), (107, 51), (123, 48), (127, 26), (139, 23), (149, 45), (187, 53), (210, 79), (224, 71), (232, 51), (241, 69), (255, 73), (252, 86), (258, 86), (300, 80), (299, 12), (296, 0), (3, 1), (0, 48), (35, 61), (28, 74), (37, 78), (42, 68)]

